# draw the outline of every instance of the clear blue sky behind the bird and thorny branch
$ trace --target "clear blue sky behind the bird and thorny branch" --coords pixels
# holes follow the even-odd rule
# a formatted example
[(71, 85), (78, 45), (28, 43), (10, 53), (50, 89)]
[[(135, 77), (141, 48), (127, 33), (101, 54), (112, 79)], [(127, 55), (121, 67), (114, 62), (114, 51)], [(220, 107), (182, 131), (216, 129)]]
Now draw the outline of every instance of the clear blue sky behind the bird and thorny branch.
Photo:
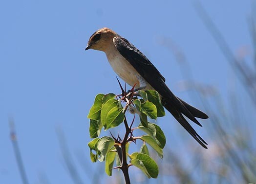
[[(188, 92), (175, 88), (183, 79), (179, 65), (172, 53), (159, 44), (160, 38), (171, 38), (186, 54), (195, 80), (216, 86), (225, 98), (232, 70), (192, 2), (1, 1), (0, 183), (21, 183), (9, 139), (9, 117), (15, 120), (30, 183), (37, 183), (42, 173), (52, 184), (72, 183), (56, 136), (58, 127), (65, 133), (82, 179), (89, 180), (75, 159), (75, 153), (82, 151), (91, 168), (98, 165), (89, 160), (88, 110), (97, 93), (119, 92), (116, 74), (106, 55), (84, 50), (88, 38), (99, 28), (109, 27), (126, 37), (165, 76), (171, 90), (191, 102)], [(217, 0), (202, 4), (234, 52), (251, 46), (248, 18), (252, 1)], [(237, 93), (245, 94), (237, 86)], [(249, 99), (246, 94), (244, 98)], [(194, 105), (201, 108), (200, 104)], [(197, 146), (171, 115), (161, 118), (159, 124), (171, 149), (182, 148), (172, 143), (180, 136)], [(197, 130), (211, 142), (207, 128), (210, 126), (206, 124)], [(185, 142), (181, 143), (188, 144)]]

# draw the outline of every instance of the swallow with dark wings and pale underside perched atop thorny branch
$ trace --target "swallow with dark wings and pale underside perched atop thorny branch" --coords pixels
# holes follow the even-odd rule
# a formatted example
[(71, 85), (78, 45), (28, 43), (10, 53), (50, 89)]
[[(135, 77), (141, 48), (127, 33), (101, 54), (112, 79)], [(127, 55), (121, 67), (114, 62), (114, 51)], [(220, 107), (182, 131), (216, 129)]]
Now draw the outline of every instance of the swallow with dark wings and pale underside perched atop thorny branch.
[(143, 90), (155, 90), (160, 94), (161, 103), (172, 116), (204, 148), (208, 145), (192, 128), (184, 115), (202, 127), (196, 118), (207, 119), (208, 115), (175, 96), (166, 85), (165, 77), (149, 59), (126, 38), (104, 27), (94, 32), (88, 40), (88, 49), (103, 51), (114, 72), (128, 85)]

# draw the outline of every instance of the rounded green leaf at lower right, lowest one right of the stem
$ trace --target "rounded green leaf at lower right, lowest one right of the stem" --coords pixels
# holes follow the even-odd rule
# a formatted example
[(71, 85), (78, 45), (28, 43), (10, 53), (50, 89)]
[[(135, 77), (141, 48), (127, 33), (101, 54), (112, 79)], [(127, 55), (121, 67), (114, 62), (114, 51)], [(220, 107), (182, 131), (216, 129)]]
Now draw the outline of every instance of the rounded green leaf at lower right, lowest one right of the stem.
[(130, 163), (141, 169), (148, 178), (157, 178), (158, 166), (149, 155), (138, 153), (136, 158), (132, 159)]

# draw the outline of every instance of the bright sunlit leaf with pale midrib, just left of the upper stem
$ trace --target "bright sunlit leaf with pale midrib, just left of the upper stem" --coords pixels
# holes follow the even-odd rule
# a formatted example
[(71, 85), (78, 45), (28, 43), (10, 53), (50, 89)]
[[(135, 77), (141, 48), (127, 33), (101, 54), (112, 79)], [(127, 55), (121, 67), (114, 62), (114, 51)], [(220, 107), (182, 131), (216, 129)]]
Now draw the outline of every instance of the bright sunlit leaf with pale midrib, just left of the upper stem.
[(106, 117), (107, 128), (106, 129), (117, 127), (124, 121), (124, 117), (125, 117), (125, 114), (123, 113), (123, 109), (121, 109), (119, 107), (113, 107), (107, 113), (107, 117)]

